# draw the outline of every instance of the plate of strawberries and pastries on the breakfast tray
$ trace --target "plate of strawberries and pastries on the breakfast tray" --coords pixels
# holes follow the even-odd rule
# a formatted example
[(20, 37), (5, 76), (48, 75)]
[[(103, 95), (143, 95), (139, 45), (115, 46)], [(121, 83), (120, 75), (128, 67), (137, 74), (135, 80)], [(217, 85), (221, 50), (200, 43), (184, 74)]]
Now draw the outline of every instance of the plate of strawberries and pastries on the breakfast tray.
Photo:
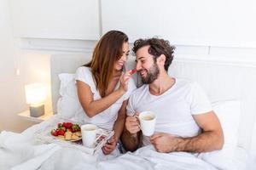
[(79, 124), (73, 122), (60, 122), (55, 129), (50, 131), (55, 139), (66, 141), (77, 141), (82, 139), (81, 128)]

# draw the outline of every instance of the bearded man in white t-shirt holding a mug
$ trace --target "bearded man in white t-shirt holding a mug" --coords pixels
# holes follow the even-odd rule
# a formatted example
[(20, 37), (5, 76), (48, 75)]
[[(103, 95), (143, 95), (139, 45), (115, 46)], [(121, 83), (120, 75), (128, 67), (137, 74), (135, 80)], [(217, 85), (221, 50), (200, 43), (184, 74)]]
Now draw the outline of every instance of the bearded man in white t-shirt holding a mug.
[[(159, 152), (207, 152), (220, 150), (224, 134), (218, 117), (212, 111), (207, 95), (196, 82), (169, 77), (174, 47), (158, 38), (139, 39), (134, 42), (137, 71), (143, 86), (129, 99), (122, 142), (126, 150), (137, 150), (153, 144)], [(156, 114), (155, 133), (141, 135), (137, 117), (142, 111)]]

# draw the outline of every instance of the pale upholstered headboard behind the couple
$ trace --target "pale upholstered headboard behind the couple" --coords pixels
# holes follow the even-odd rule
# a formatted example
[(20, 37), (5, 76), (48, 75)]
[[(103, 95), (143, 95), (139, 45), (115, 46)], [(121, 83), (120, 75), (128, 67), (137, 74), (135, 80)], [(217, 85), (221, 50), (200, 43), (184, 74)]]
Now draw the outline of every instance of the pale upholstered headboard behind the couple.
[[(52, 105), (56, 111), (60, 97), (58, 74), (74, 73), (76, 69), (90, 60), (86, 54), (55, 54), (51, 57)], [(134, 57), (129, 59), (134, 66)], [(241, 117), (238, 143), (250, 150), (256, 113), (256, 64), (236, 59), (219, 59), (210, 56), (178, 55), (174, 59), (169, 74), (200, 82), (211, 101), (225, 99), (241, 100)], [(246, 133), (245, 133), (246, 132)]]

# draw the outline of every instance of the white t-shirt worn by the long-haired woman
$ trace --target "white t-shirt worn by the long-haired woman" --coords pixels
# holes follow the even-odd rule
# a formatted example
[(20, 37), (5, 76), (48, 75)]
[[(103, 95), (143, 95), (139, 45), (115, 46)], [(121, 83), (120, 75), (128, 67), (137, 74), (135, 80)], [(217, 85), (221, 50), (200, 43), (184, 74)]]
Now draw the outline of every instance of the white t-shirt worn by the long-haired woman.
[[(90, 90), (93, 94), (93, 99), (102, 99), (99, 91), (96, 89), (96, 84), (93, 80), (92, 73), (90, 67), (81, 66), (76, 71), (76, 77), (75, 80), (79, 80), (81, 82), (85, 82), (87, 85), (90, 86)], [(119, 88), (119, 83), (116, 85), (117, 89)], [(89, 117), (84, 112), (84, 122), (86, 123), (93, 123), (98, 127), (106, 128), (108, 130), (113, 129), (113, 123), (116, 121), (118, 116), (118, 111), (121, 108), (121, 105), (123, 104), (123, 101), (128, 99), (131, 95), (131, 92), (136, 89), (135, 82), (131, 78), (128, 82), (128, 90), (127, 92), (120, 97), (113, 105), (108, 107), (105, 111), (102, 111), (101, 113), (97, 114), (96, 116)], [(86, 95), (86, 94), (84, 94)], [(84, 110), (81, 110), (84, 111)]]

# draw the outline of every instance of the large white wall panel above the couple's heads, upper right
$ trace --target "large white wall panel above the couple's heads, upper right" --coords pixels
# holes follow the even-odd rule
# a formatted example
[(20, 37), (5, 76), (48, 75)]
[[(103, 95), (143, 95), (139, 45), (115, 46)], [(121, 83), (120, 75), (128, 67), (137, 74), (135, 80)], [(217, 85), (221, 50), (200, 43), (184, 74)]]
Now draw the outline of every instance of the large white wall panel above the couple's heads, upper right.
[(179, 45), (255, 48), (253, 0), (102, 0), (102, 31), (132, 40), (160, 36)]

